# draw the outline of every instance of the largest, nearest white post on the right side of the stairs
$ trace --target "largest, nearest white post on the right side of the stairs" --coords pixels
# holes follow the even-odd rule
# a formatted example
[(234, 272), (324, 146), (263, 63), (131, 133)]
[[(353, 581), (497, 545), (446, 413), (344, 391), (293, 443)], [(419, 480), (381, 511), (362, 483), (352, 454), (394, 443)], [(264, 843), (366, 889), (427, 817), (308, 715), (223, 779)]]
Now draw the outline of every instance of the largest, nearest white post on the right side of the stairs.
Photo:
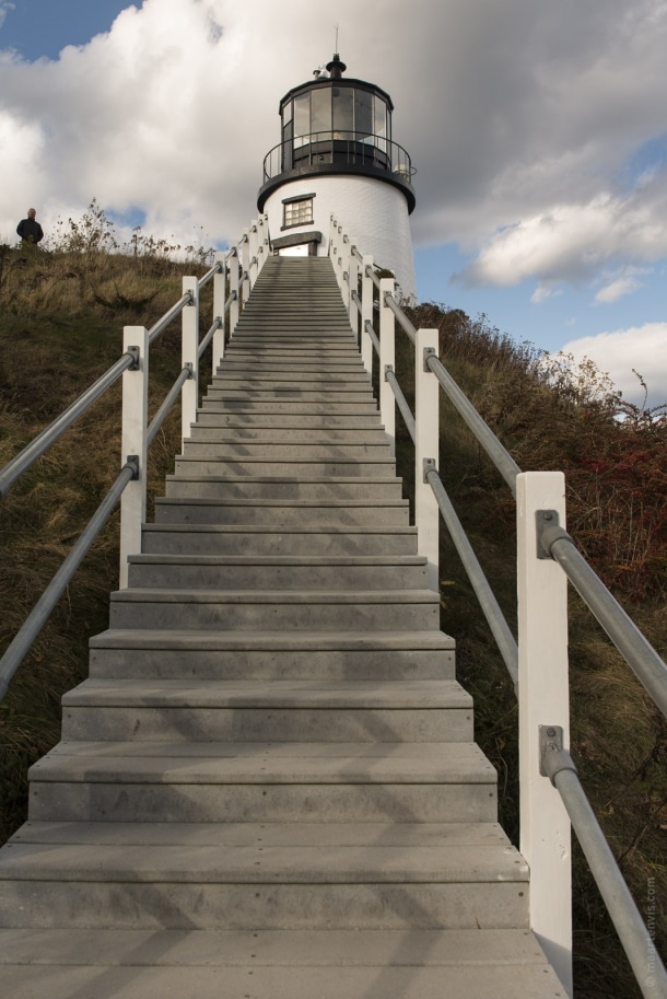
[(540, 775), (539, 730), (558, 725), (570, 744), (567, 582), (539, 558), (536, 518), (547, 511), (565, 526), (562, 472), (517, 477), (518, 694), (520, 851), (530, 868), (530, 926), (563, 987), (572, 995), (570, 820), (561, 797)]

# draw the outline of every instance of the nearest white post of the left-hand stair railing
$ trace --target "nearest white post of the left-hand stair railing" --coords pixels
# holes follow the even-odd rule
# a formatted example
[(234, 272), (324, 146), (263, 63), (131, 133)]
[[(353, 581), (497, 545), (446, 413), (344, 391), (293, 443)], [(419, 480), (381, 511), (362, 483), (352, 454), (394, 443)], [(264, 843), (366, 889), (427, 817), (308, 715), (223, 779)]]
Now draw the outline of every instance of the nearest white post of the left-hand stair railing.
[(145, 481), (149, 418), (149, 332), (144, 326), (126, 326), (122, 349), (137, 352), (133, 368), (122, 373), (122, 429), (120, 456), (125, 464), (137, 458), (139, 476), (128, 483), (120, 497), (120, 571), (118, 585), (128, 585), (128, 557), (141, 551), (141, 527), (145, 521)]

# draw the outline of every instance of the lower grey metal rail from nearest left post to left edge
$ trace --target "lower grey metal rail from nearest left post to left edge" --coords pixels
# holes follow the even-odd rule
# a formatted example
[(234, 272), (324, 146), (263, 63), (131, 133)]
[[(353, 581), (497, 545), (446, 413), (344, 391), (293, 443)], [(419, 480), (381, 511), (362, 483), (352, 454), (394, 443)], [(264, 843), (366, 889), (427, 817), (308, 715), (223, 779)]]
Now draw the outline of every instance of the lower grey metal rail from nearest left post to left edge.
[(114, 507), (120, 499), (122, 490), (128, 483), (133, 478), (137, 478), (138, 475), (139, 463), (137, 458), (128, 457), (118, 473), (114, 485), (97, 507), (97, 510), (89, 521), (87, 526), (83, 530), (74, 547), (71, 548), (65, 561), (10, 643), (4, 655), (0, 660), (0, 700), (4, 697), (12, 676), (23, 662), (23, 659), (44, 627), (51, 611), (65, 593), (72, 576), (83, 561), (83, 558), (100, 534), (100, 531), (104, 526)]

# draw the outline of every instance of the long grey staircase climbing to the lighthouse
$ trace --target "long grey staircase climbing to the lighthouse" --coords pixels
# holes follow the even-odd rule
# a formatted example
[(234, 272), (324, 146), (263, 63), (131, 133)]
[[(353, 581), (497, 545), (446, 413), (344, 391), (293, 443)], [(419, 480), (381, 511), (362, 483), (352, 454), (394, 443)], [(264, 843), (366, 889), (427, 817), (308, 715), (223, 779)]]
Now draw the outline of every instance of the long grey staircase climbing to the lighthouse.
[(327, 259), (272, 258), (0, 852), (12, 999), (552, 999)]

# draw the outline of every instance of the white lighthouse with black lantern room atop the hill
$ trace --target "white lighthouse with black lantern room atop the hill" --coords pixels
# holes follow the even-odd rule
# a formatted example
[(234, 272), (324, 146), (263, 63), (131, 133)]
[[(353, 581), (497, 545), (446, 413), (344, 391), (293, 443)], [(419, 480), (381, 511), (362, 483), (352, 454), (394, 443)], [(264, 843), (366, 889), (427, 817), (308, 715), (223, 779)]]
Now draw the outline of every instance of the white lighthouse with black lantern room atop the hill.
[(336, 216), (411, 300), (412, 164), (393, 139), (389, 94), (343, 77), (346, 70), (336, 54), (281, 100), (281, 139), (265, 158), (257, 206), (281, 255), (327, 254), (329, 219)]

